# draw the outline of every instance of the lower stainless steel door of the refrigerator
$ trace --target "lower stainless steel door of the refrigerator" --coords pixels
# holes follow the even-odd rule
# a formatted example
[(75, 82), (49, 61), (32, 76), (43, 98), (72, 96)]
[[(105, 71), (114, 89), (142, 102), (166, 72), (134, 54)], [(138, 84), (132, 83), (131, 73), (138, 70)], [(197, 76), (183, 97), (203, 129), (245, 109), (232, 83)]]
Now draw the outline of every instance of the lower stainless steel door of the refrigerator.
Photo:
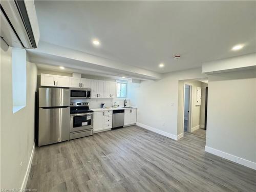
[(39, 108), (38, 145), (47, 145), (70, 138), (70, 106)]

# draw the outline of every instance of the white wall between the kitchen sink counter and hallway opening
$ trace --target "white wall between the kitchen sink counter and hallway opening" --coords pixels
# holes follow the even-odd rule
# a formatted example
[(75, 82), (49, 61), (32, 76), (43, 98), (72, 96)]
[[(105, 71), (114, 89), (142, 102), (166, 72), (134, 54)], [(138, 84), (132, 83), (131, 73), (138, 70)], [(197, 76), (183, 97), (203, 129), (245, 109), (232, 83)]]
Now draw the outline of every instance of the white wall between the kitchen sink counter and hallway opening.
[[(129, 83), (132, 105), (138, 106), (137, 122), (177, 136), (179, 80), (207, 77), (201, 68), (165, 74), (156, 81)], [(183, 104), (182, 104), (183, 105)]]

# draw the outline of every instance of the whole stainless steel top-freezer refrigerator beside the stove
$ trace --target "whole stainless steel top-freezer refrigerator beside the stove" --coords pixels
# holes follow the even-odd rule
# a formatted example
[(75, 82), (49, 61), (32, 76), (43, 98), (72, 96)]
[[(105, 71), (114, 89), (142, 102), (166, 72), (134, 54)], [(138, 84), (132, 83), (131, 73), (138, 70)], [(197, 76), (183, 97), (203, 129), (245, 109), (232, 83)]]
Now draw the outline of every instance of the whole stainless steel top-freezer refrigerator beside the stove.
[(70, 90), (38, 88), (38, 145), (70, 139)]

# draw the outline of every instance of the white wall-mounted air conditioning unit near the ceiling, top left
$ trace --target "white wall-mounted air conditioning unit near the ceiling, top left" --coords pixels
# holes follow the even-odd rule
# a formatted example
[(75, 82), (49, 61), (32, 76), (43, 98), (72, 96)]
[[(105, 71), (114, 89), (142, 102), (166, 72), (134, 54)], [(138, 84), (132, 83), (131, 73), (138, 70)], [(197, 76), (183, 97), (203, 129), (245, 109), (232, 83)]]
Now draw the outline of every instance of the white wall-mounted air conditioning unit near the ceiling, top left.
[(37, 48), (39, 27), (34, 1), (1, 1), (1, 38), (10, 47)]

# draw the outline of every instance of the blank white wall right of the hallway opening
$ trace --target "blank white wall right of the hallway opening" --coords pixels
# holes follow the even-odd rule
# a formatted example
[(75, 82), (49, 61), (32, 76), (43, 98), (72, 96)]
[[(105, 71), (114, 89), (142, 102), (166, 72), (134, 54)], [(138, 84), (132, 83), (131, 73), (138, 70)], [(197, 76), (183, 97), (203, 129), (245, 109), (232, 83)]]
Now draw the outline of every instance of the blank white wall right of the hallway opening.
[(209, 76), (206, 146), (256, 162), (256, 70)]

